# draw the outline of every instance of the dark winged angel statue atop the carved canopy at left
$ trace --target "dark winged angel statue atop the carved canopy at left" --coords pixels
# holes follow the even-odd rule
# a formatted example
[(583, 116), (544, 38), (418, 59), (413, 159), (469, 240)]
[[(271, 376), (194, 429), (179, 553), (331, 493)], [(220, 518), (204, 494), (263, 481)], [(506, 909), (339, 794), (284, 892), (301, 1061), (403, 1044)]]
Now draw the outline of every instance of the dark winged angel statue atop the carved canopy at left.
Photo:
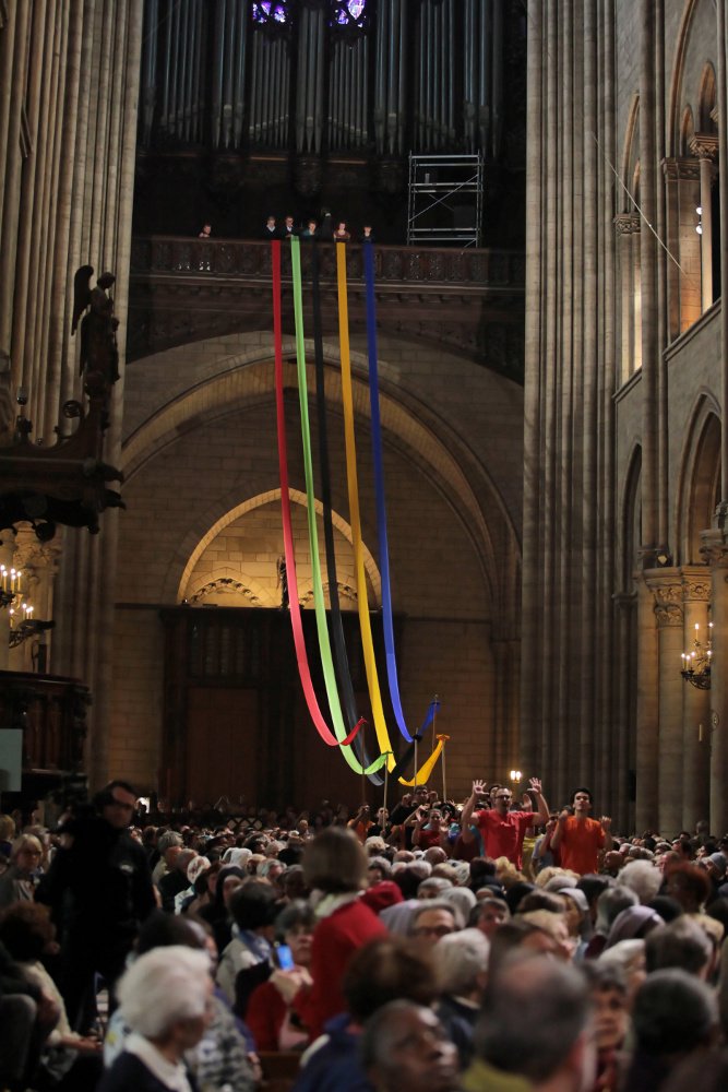
[(119, 378), (119, 349), (117, 328), (119, 320), (114, 314), (114, 299), (108, 294), (115, 283), (112, 273), (102, 273), (96, 287), (91, 287), (94, 269), (82, 265), (73, 277), (73, 322), (74, 334), (81, 316), (81, 373), (100, 375), (108, 383)]

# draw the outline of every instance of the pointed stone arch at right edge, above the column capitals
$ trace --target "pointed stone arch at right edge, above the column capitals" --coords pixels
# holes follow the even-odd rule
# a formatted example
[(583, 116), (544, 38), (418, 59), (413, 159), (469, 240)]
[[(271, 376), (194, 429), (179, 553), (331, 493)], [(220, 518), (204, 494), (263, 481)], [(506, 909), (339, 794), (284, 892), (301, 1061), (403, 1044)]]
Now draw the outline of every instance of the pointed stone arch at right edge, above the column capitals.
[(677, 491), (681, 565), (700, 565), (701, 532), (720, 499), (720, 414), (709, 391), (699, 393), (685, 430)]

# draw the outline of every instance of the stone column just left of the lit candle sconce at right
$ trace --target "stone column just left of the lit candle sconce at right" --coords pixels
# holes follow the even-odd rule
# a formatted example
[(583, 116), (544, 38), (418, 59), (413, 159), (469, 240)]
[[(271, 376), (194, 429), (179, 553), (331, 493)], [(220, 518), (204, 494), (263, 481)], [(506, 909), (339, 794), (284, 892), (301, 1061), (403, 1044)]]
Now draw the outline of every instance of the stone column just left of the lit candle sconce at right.
[(645, 579), (655, 597), (658, 632), (657, 829), (670, 836), (682, 828), (682, 579), (675, 569), (653, 569)]

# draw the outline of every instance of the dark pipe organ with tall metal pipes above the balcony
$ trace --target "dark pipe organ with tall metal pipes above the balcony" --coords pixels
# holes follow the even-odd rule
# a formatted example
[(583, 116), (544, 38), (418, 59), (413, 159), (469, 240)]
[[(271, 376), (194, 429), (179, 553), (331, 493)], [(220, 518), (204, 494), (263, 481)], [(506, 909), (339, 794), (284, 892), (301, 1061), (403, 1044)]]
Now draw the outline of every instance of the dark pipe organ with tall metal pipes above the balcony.
[(146, 0), (140, 144), (498, 157), (506, 0)]

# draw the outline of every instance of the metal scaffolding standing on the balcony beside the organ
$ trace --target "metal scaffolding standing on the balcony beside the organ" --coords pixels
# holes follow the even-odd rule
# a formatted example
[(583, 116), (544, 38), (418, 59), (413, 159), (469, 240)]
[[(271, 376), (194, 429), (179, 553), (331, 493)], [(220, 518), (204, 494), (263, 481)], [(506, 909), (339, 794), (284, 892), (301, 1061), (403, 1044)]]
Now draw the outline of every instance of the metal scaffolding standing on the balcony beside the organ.
[(482, 153), (409, 156), (407, 245), (480, 246)]

